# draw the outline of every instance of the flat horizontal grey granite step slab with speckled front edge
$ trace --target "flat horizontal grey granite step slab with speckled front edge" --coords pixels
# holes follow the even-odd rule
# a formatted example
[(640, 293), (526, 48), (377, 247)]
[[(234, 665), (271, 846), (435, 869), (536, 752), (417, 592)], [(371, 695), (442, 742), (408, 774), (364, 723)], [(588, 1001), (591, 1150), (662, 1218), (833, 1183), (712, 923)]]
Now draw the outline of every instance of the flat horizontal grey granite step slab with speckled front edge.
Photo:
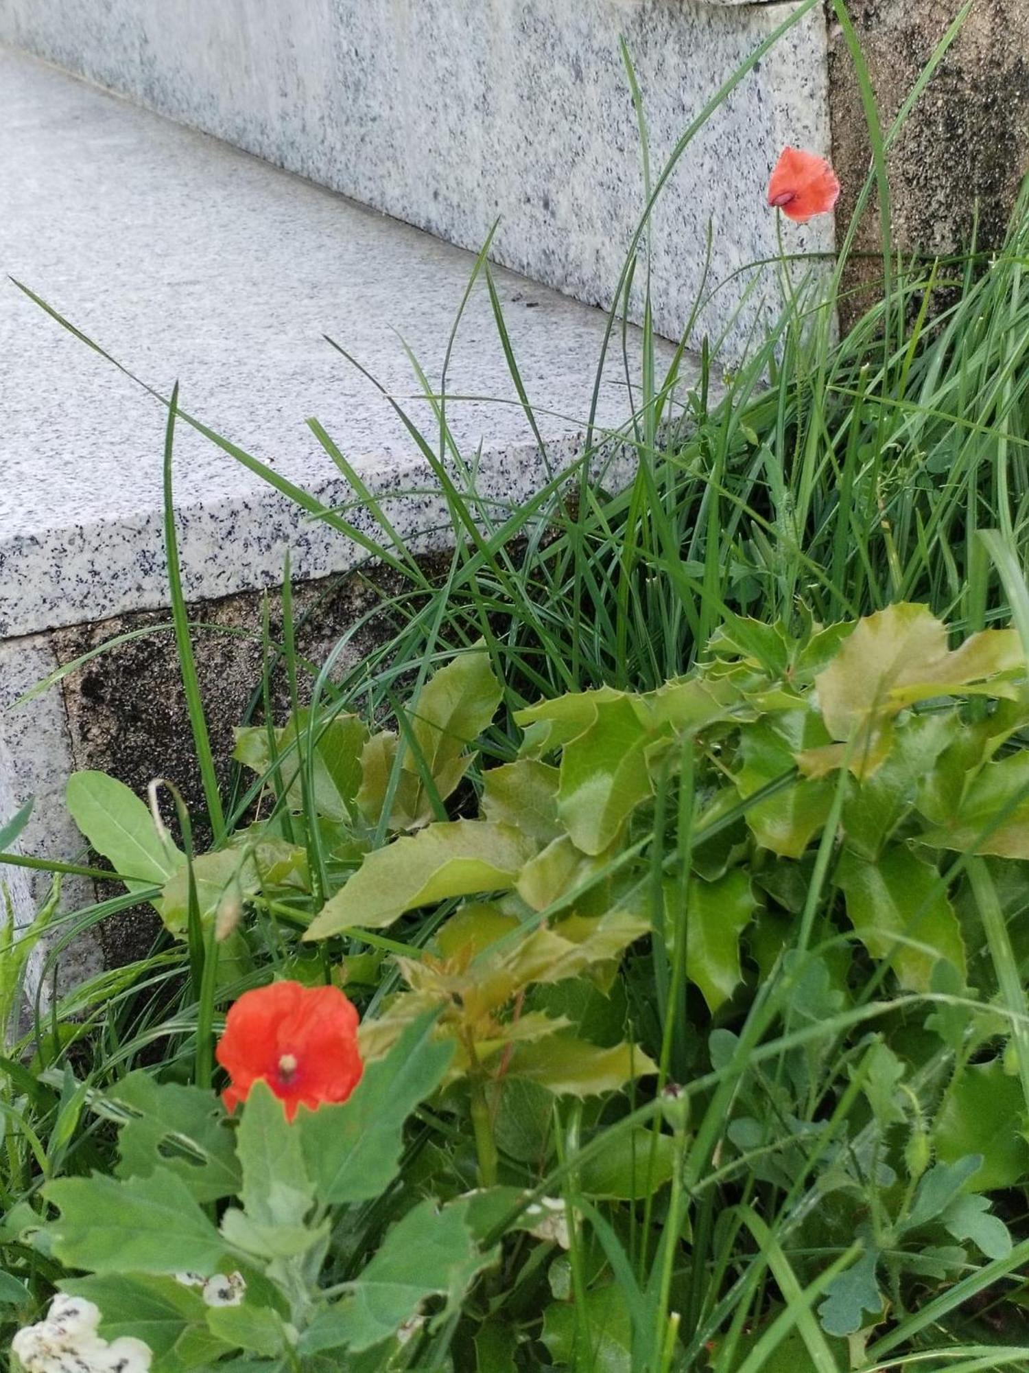
[[(427, 487), (425, 459), (388, 402), (322, 332), (438, 445), (431, 408), (407, 400), (417, 382), (402, 339), (438, 386), (468, 253), (3, 51), (0, 205), (5, 272), (163, 394), (180, 379), (185, 409), (281, 476), (325, 504), (351, 496), (305, 423), (317, 416), (375, 490)], [(582, 449), (604, 314), (509, 272), (497, 288), (560, 468)], [(167, 604), (163, 406), (10, 283), (0, 356), (0, 638)], [(480, 454), (480, 494), (517, 507), (546, 471), (482, 284), (447, 389), (476, 398), (450, 400), (447, 417), (465, 459)], [(600, 424), (630, 412), (613, 356)], [(279, 585), (287, 549), (298, 578), (359, 556), (185, 426), (174, 482), (189, 599)], [(405, 537), (453, 538), (436, 497), (397, 494), (388, 509)], [(368, 512), (354, 519), (372, 526)]]

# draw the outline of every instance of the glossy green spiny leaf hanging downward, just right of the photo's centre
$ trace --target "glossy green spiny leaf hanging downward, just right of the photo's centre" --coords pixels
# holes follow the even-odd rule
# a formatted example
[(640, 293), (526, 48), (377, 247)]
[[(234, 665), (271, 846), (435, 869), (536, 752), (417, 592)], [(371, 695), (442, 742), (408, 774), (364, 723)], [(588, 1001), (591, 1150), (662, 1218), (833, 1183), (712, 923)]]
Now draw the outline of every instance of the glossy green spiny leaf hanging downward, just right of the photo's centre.
[(598, 702), (595, 719), (561, 754), (557, 811), (572, 843), (601, 854), (637, 806), (653, 794), (646, 748), (649, 721), (630, 696)]

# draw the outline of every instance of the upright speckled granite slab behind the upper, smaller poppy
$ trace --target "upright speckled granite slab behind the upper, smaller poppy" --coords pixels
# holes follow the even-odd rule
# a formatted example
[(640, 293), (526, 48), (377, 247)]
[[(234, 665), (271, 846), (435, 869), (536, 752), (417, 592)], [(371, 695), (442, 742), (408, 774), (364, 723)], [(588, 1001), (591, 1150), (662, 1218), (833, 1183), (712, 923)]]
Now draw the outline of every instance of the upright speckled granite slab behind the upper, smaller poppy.
[[(0, 40), (324, 185), (611, 303), (642, 209), (637, 69), (660, 168), (719, 85), (796, 7), (712, 0), (0, 0)], [(829, 150), (816, 5), (697, 135), (654, 216), (659, 328), (676, 336), (711, 264), (697, 334), (738, 351), (774, 283), (764, 206), (781, 147)], [(788, 229), (827, 250), (831, 225)], [(738, 313), (735, 313), (738, 309)]]

